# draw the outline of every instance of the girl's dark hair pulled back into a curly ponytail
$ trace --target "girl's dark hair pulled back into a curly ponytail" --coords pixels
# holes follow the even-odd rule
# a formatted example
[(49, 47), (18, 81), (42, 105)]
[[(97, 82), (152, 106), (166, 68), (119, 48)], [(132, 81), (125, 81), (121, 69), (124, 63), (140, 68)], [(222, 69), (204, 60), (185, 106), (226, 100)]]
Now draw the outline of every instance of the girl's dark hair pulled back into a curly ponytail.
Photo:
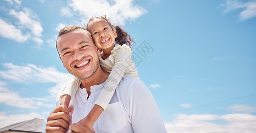
[(132, 36), (130, 36), (126, 31), (124, 31), (121, 27), (111, 24), (111, 20), (109, 18), (107, 18), (105, 15), (104, 16), (100, 16), (100, 17), (93, 17), (91, 18), (87, 25), (86, 25), (86, 29), (88, 29), (88, 24), (93, 21), (93, 20), (97, 20), (97, 19), (103, 19), (105, 21), (107, 21), (107, 23), (109, 24), (109, 26), (112, 28), (112, 30), (116, 30), (116, 34), (117, 37), (115, 39), (116, 43), (119, 45), (123, 45), (126, 44), (128, 46), (132, 46), (135, 45), (136, 43), (133, 41)]

